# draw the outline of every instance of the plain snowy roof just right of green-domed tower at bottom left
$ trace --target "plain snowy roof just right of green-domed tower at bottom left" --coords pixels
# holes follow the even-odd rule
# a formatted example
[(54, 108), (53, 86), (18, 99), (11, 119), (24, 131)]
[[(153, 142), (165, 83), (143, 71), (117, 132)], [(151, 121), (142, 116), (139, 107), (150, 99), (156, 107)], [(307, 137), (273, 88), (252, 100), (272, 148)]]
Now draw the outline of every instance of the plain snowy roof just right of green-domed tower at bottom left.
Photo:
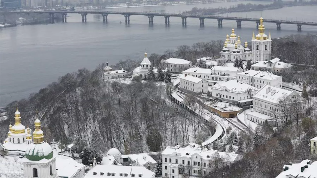
[(73, 160), (73, 158), (62, 159), (56, 157), (56, 170), (60, 177), (73, 177), (78, 172), (78, 169), (85, 168), (85, 165)]

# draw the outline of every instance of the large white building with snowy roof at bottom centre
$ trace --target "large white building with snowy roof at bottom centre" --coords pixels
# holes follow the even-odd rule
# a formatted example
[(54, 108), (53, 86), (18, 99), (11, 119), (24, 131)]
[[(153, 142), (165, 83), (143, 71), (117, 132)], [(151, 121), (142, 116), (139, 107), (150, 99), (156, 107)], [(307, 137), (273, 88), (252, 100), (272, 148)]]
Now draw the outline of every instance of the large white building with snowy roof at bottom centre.
[(215, 167), (213, 160), (221, 159), (229, 164), (241, 158), (235, 152), (225, 153), (213, 149), (201, 149), (200, 145), (191, 144), (181, 148), (167, 146), (162, 152), (162, 177), (183, 178), (184, 174), (193, 177), (211, 175)]

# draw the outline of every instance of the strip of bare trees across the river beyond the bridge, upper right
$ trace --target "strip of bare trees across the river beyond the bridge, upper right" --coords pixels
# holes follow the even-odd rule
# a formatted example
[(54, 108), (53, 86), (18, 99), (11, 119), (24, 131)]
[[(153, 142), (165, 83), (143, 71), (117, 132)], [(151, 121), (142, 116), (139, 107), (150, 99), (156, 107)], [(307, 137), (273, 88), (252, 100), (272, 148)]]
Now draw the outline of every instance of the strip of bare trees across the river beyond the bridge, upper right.
[(247, 12), (247, 11), (255, 11), (255, 10), (270, 10), (270, 9), (280, 9), (287, 6), (300, 6), (300, 5), (314, 5), (317, 4), (316, 1), (301, 1), (301, 2), (291, 2), (291, 1), (274, 1), (271, 4), (237, 4), (235, 6), (226, 7), (218, 7), (218, 8), (197, 8), (194, 7), (189, 11), (183, 12), (183, 14), (192, 14), (192, 15), (213, 15), (213, 14), (224, 14), (230, 12)]

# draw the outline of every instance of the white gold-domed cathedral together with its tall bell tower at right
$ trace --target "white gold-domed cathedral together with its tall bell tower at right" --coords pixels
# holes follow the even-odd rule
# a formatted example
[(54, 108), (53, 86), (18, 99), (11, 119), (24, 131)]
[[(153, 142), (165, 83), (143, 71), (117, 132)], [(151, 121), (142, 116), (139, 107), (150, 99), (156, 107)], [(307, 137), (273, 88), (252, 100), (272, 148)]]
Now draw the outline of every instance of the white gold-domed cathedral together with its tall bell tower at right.
[(271, 60), (271, 35), (264, 33), (263, 18), (260, 18), (259, 33), (252, 36), (252, 51), (248, 48), (248, 42), (241, 43), (240, 36), (235, 34), (235, 29), (231, 30), (231, 34), (227, 34), (224, 41), (224, 47), (220, 52), (220, 59), (224, 61), (251, 60), (252, 63), (261, 60)]

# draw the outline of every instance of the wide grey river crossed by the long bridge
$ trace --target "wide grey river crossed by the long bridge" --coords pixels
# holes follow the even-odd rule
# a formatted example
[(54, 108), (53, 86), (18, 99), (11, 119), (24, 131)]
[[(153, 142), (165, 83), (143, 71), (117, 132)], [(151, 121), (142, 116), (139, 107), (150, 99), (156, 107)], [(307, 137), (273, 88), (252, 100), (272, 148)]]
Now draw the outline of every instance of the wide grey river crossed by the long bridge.
[[(222, 2), (189, 5), (167, 5), (151, 7), (112, 8), (107, 11), (165, 12), (180, 13), (198, 8), (229, 7), (238, 3), (262, 3), (259, 1)], [(316, 22), (317, 6), (288, 7), (279, 10), (230, 13), (223, 16), (247, 16), (272, 19), (301, 20)], [(217, 20), (205, 19), (204, 28), (199, 20), (188, 18), (182, 27), (179, 17), (170, 18), (165, 27), (164, 17), (154, 17), (152, 27), (146, 16), (131, 16), (130, 25), (124, 24), (124, 16), (109, 15), (108, 23), (102, 23), (102, 16), (87, 15), (87, 23), (81, 22), (79, 14), (68, 14), (67, 23), (29, 25), (0, 29), (0, 106), (10, 101), (29, 97), (32, 92), (57, 81), (58, 77), (80, 68), (94, 70), (102, 62), (115, 64), (128, 58), (141, 60), (144, 52), (162, 54), (166, 49), (179, 45), (192, 45), (200, 41), (225, 40), (235, 21), (224, 20), (223, 28), (217, 28)], [(120, 21), (123, 23), (120, 24)], [(264, 23), (266, 32), (272, 38), (291, 34), (316, 33), (315, 26), (281, 25), (276, 30), (274, 23)], [(252, 31), (256, 33), (255, 22), (242, 22), (236, 29), (241, 40), (251, 41)], [(314, 44), (315, 45), (315, 44)]]

